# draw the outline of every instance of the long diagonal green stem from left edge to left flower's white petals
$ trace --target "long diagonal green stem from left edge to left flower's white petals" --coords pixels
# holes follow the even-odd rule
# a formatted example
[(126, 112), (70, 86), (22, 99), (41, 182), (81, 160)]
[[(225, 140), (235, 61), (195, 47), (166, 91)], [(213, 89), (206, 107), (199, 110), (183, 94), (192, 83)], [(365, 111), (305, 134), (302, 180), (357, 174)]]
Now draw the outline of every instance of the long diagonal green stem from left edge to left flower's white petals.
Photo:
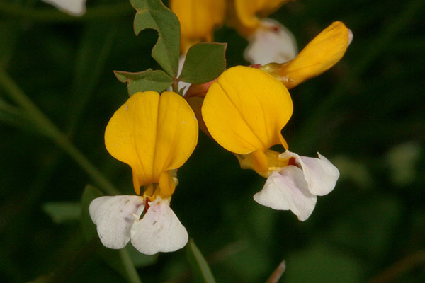
[(34, 125), (37, 125), (41, 132), (50, 137), (57, 146), (63, 149), (71, 158), (76, 161), (81, 168), (91, 177), (99, 188), (107, 195), (118, 195), (115, 187), (102, 175), (98, 169), (91, 164), (89, 159), (69, 141), (69, 139), (60, 132), (59, 129), (38, 109), (38, 107), (26, 96), (16, 83), (6, 74), (4, 69), (0, 68), (0, 86), (15, 101), (16, 104), (26, 110)]

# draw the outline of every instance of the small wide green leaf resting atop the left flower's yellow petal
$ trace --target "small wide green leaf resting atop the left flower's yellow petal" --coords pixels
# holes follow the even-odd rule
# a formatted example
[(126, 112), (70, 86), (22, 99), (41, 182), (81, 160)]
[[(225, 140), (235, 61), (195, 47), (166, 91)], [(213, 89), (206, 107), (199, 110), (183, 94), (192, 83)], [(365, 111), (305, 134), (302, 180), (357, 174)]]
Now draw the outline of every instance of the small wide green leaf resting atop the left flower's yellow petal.
[(127, 83), (128, 94), (137, 93), (137, 91), (157, 91), (162, 93), (171, 86), (173, 79), (164, 71), (147, 69), (138, 73), (128, 71), (113, 71), (117, 79), (122, 83)]

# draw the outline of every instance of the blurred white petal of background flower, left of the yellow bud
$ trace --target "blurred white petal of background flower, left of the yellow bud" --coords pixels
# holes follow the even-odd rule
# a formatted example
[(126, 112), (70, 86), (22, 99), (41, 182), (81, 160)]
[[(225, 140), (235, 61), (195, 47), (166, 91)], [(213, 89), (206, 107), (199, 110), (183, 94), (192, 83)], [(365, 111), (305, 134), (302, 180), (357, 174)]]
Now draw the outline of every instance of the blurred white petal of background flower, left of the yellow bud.
[(295, 58), (297, 43), (290, 31), (278, 21), (261, 21), (261, 28), (251, 35), (244, 58), (251, 64), (283, 63)]

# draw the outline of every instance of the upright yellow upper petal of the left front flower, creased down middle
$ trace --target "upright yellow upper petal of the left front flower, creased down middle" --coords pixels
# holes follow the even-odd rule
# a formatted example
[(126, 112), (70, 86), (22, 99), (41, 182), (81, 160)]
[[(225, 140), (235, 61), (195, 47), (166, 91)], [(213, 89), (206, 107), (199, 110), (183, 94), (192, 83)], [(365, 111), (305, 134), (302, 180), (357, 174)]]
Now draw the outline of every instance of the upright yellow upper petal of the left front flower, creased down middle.
[[(161, 96), (154, 91), (133, 94), (105, 131), (106, 149), (131, 166), (137, 194), (140, 186), (159, 183), (165, 171), (182, 166), (197, 140), (193, 110), (184, 98), (168, 91)], [(164, 189), (174, 191), (172, 184)]]

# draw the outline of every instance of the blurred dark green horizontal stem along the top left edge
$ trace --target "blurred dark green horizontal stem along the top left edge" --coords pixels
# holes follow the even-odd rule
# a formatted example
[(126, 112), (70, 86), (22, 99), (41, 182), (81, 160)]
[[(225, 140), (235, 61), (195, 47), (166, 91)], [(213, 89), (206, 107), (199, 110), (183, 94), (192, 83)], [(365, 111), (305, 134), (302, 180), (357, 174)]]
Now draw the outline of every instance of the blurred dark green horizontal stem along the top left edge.
[(69, 16), (55, 8), (30, 8), (19, 4), (0, 1), (0, 14), (2, 16), (50, 23), (93, 21), (102, 18), (120, 17), (133, 12), (134, 9), (128, 3), (105, 4), (94, 8), (87, 8), (86, 13), (83, 16)]

